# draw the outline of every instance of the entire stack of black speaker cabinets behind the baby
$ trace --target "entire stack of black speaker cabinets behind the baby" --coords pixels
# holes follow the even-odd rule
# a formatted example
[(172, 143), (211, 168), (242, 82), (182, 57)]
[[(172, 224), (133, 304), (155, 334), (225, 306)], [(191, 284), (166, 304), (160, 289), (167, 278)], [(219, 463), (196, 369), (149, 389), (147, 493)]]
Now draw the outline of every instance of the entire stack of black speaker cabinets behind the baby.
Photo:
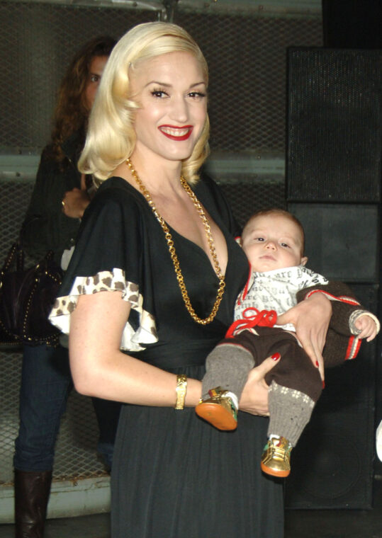
[[(288, 51), (288, 210), (308, 267), (352, 282), (378, 312), (381, 50)], [(355, 284), (354, 284), (355, 282)], [(326, 388), (291, 454), (288, 508), (371, 508), (376, 342), (326, 372)]]

